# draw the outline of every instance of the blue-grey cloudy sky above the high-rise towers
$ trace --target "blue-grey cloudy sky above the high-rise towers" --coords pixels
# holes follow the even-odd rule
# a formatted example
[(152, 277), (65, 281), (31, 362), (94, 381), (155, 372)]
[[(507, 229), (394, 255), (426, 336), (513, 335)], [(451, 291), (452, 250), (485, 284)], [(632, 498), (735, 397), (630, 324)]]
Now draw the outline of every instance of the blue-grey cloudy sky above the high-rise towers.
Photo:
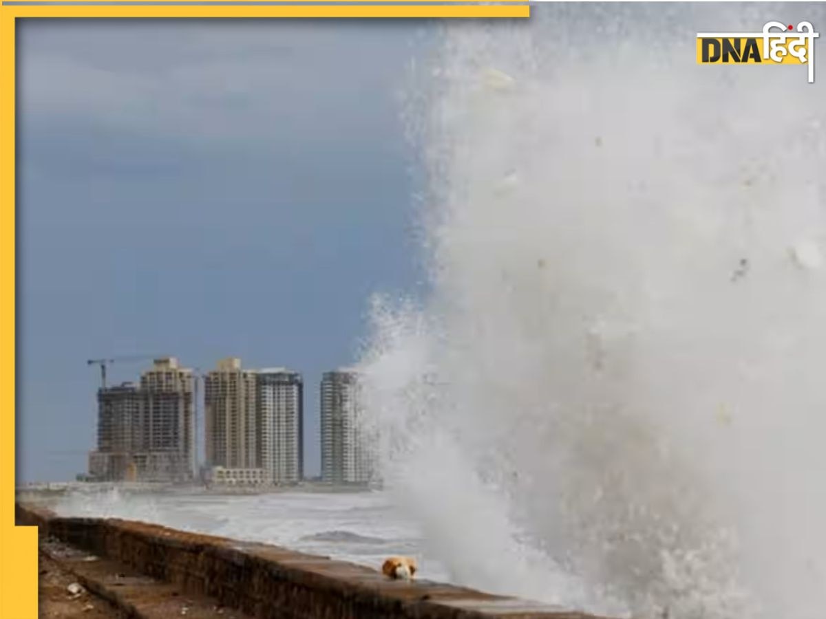
[(423, 286), (399, 94), (433, 31), (377, 26), (18, 26), (18, 482), (86, 470), (86, 360), (142, 354), (301, 371), (318, 472), (321, 373), (357, 360), (370, 295)]

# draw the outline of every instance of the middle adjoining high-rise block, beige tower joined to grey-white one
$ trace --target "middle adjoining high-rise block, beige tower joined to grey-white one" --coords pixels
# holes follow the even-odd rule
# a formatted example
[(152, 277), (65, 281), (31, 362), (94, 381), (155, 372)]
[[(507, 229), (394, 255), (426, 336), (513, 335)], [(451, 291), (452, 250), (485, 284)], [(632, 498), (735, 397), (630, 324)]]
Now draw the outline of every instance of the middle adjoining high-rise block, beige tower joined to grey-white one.
[(207, 466), (221, 483), (293, 484), (303, 474), (303, 385), (286, 368), (218, 362), (205, 380)]

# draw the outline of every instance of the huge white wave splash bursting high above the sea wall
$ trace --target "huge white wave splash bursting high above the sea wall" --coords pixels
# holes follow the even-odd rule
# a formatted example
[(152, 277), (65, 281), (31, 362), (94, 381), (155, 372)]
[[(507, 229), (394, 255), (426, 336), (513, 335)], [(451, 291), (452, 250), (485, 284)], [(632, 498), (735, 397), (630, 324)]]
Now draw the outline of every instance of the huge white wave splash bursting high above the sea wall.
[(826, 12), (532, 11), (411, 89), (432, 291), (373, 306), (387, 484), (463, 584), (821, 619), (826, 80), (694, 37)]

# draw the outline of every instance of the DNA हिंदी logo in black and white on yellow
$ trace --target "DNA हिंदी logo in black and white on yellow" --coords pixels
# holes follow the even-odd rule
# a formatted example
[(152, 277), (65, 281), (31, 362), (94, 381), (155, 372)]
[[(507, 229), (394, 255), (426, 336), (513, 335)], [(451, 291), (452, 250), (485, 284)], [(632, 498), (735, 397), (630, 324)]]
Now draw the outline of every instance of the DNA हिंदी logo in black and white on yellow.
[(809, 21), (786, 26), (768, 21), (762, 32), (698, 32), (698, 64), (808, 64), (814, 83), (814, 40)]

